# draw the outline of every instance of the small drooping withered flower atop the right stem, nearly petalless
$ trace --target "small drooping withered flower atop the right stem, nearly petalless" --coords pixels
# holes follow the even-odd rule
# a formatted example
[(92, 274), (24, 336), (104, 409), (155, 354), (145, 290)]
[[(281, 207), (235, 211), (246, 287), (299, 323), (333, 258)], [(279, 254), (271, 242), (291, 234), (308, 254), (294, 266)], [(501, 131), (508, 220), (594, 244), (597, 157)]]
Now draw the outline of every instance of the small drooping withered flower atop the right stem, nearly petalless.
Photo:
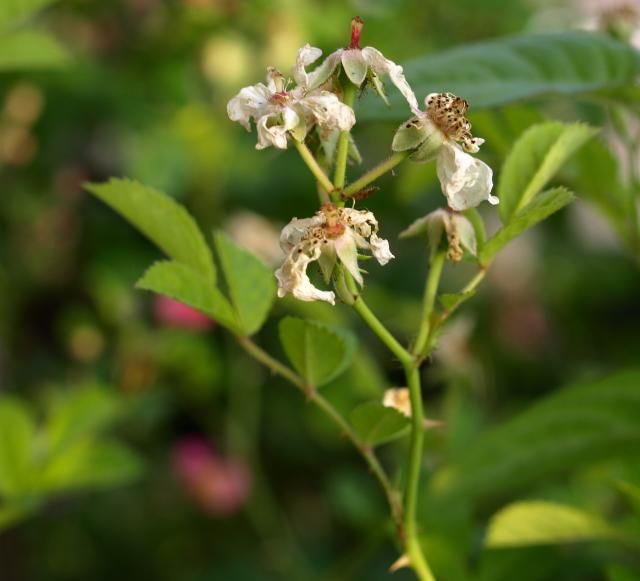
[(473, 225), (467, 218), (458, 212), (439, 209), (422, 218), (418, 218), (406, 230), (400, 233), (400, 238), (409, 238), (426, 234), (429, 239), (429, 249), (433, 258), (442, 235), (447, 235), (447, 258), (451, 262), (462, 260), (464, 251), (477, 253), (476, 233)]

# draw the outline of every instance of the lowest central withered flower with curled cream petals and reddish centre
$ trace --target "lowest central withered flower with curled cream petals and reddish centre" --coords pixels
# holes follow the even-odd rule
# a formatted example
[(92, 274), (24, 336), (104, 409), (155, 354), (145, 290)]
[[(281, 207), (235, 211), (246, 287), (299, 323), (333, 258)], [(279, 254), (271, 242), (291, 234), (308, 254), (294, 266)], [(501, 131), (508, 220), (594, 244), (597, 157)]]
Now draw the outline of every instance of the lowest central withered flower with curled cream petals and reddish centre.
[(307, 266), (318, 261), (325, 280), (329, 281), (338, 259), (363, 284), (358, 267), (358, 248), (368, 249), (385, 265), (394, 258), (389, 242), (378, 237), (378, 221), (372, 212), (337, 208), (325, 204), (312, 218), (293, 218), (280, 234), (280, 246), (287, 253), (276, 270), (278, 296), (291, 293), (301, 301), (326, 301), (335, 304), (332, 291), (322, 291), (311, 283)]

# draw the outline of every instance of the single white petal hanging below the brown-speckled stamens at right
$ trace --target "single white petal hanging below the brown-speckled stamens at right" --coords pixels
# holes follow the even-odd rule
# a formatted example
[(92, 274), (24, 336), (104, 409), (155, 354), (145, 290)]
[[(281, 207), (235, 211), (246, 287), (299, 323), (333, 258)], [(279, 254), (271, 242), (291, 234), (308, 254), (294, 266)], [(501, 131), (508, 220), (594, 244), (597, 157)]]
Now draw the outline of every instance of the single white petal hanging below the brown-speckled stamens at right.
[(493, 172), (483, 161), (446, 142), (437, 159), (437, 173), (449, 207), (462, 211), (475, 208), (483, 200), (497, 204), (491, 195)]

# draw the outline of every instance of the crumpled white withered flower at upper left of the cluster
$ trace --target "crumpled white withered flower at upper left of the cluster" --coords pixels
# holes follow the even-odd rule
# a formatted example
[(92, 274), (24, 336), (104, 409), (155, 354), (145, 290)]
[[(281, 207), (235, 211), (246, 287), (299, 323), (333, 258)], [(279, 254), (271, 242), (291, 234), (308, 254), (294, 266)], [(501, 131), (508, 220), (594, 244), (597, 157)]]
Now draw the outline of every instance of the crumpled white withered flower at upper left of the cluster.
[(287, 91), (284, 77), (273, 68), (268, 69), (266, 85), (258, 83), (244, 87), (231, 99), (227, 114), (247, 131), (251, 131), (251, 119), (255, 121), (258, 129), (256, 149), (271, 145), (286, 149), (289, 134), (304, 141), (314, 124), (327, 130), (348, 131), (356, 122), (353, 109), (333, 93), (309, 90), (305, 83)]

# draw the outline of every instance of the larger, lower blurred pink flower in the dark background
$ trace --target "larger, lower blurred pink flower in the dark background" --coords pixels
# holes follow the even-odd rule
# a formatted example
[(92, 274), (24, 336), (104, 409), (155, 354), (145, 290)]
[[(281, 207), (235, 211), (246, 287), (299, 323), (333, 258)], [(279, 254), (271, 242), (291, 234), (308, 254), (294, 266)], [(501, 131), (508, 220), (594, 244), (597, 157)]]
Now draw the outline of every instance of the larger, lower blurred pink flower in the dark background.
[(223, 458), (202, 438), (181, 440), (173, 465), (182, 485), (200, 508), (213, 516), (239, 510), (251, 492), (251, 472), (239, 458)]

